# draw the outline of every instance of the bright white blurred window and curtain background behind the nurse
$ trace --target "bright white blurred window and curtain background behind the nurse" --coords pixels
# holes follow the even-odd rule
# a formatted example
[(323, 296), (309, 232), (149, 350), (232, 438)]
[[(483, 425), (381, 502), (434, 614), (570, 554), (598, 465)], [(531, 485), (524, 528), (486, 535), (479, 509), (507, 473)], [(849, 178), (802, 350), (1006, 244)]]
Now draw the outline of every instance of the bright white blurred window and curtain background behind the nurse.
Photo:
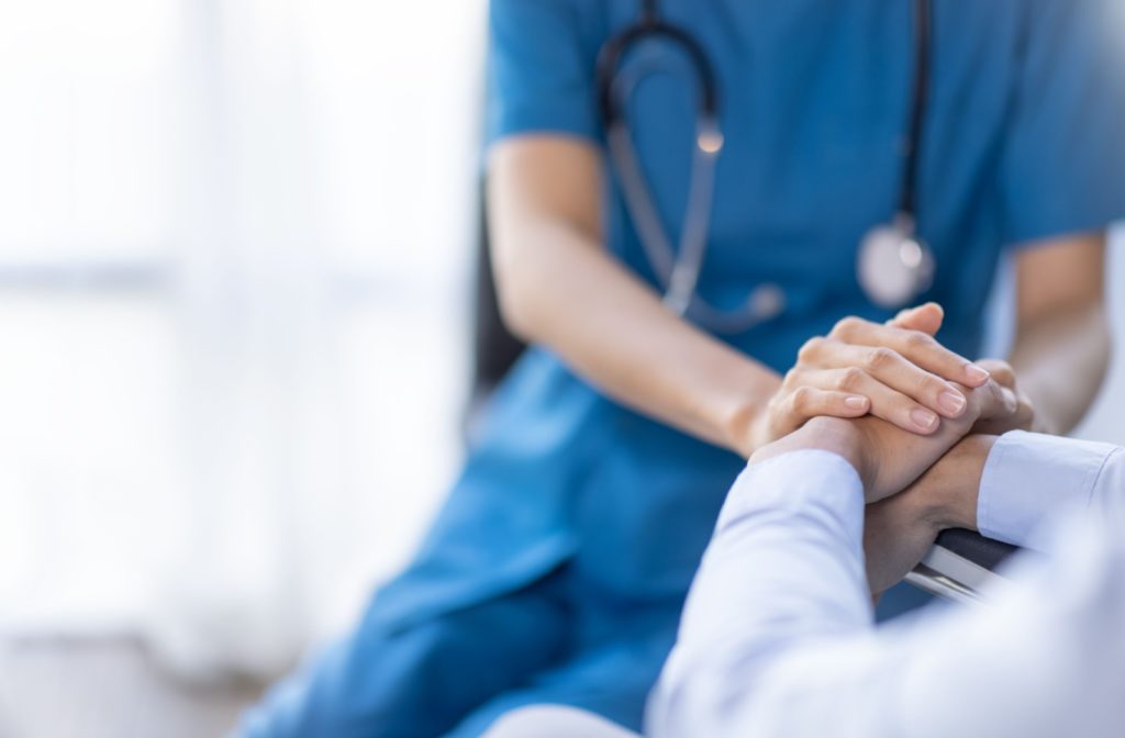
[[(485, 12), (0, 0), (0, 736), (220, 735), (410, 556), (470, 398)], [(1079, 434), (1122, 407), (1116, 360)]]

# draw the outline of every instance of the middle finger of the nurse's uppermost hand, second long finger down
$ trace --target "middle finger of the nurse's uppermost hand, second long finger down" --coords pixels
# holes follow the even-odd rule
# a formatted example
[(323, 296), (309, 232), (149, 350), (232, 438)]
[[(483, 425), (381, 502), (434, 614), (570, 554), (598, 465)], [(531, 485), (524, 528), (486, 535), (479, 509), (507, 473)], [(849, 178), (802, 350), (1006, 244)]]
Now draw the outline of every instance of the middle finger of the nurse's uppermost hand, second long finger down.
[(908, 361), (894, 349), (827, 341), (810, 349), (807, 358), (822, 369), (858, 367), (945, 417), (960, 417), (969, 406), (957, 386)]

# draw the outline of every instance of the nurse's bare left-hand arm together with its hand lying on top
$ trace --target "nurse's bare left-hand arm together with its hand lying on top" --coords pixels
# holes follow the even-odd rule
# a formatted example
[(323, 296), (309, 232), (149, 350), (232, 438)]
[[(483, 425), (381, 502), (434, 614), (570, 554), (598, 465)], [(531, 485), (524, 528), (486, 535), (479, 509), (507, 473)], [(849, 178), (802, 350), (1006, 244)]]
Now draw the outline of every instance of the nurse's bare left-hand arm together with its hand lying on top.
[(577, 140), (502, 141), (489, 152), (488, 216), (508, 327), (610, 397), (749, 456), (818, 415), (870, 412), (933, 432), (937, 423), (919, 428), (912, 413), (955, 416), (942, 393), (987, 380), (930, 335), (848, 318), (803, 352), (804, 378), (786, 381), (669, 313), (605, 251), (601, 169), (600, 154)]

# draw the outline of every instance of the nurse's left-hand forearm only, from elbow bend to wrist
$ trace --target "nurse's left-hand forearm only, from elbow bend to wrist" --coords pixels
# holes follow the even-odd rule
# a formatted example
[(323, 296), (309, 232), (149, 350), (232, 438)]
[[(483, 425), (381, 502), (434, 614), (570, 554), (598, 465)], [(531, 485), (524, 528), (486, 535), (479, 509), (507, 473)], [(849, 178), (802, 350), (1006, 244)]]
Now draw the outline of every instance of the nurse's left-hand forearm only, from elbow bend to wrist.
[(749, 452), (740, 431), (776, 389), (776, 374), (669, 313), (580, 234), (541, 227), (526, 236), (537, 243), (518, 280), (526, 292), (518, 310), (526, 339), (549, 346), (614, 399)]

